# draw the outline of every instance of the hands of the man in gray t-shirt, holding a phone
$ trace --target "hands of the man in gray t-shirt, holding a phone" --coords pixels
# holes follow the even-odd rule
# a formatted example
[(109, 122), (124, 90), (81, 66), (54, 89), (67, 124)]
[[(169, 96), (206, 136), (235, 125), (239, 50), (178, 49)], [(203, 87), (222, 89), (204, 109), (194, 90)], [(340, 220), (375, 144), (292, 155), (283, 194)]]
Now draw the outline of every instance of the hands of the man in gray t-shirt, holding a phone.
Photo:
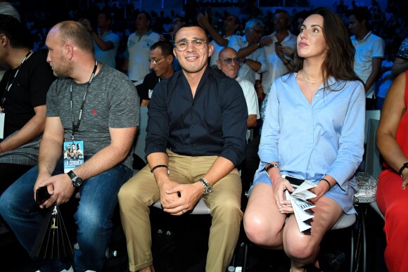
[(48, 179), (39, 177), (34, 185), (34, 194), (35, 190), (44, 186), (47, 187), (51, 197), (40, 205), (40, 208), (49, 208), (54, 202), (57, 202), (57, 205), (68, 202), (75, 191), (75, 188), (72, 187), (72, 181), (67, 174), (50, 176)]

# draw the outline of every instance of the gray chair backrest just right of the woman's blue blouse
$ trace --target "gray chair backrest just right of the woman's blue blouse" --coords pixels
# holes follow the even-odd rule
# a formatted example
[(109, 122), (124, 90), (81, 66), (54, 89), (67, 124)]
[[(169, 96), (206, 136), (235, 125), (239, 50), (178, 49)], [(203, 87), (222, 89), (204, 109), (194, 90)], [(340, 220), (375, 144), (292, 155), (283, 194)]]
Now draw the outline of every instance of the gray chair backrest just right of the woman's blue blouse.
[(380, 162), (380, 152), (376, 146), (376, 132), (379, 121), (377, 119), (369, 119), (368, 133), (366, 142), (366, 166), (364, 171), (378, 178), (382, 167)]

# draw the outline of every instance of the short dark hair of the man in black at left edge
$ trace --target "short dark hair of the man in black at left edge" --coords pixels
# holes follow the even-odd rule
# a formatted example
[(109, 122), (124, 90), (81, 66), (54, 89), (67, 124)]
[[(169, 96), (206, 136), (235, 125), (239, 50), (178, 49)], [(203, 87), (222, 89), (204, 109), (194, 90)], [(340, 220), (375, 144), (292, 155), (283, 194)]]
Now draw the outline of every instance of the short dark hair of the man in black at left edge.
[(22, 22), (11, 15), (0, 14), (0, 34), (6, 35), (13, 48), (31, 46), (30, 34)]

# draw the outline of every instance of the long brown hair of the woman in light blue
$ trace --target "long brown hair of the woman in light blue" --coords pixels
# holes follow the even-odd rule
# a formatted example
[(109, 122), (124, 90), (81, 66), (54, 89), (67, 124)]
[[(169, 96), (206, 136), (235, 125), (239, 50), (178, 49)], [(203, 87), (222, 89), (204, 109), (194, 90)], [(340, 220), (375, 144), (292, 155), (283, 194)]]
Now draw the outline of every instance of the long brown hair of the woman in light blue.
[[(359, 80), (354, 71), (355, 48), (348, 36), (348, 30), (341, 18), (329, 8), (316, 8), (310, 15), (323, 17), (323, 36), (329, 47), (321, 65), (321, 74), (326, 85), (329, 77), (337, 80)], [(295, 50), (295, 72), (302, 70), (303, 60)], [(364, 82), (363, 82), (364, 83)]]

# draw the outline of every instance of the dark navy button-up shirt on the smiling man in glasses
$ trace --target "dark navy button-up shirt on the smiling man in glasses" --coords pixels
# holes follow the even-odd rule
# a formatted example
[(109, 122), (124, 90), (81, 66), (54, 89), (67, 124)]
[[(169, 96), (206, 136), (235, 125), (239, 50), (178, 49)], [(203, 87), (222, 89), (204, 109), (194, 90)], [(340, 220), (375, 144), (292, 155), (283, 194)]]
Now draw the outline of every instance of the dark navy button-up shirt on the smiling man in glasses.
[(245, 157), (248, 109), (241, 86), (207, 67), (193, 97), (183, 72), (160, 81), (148, 104), (146, 155)]

